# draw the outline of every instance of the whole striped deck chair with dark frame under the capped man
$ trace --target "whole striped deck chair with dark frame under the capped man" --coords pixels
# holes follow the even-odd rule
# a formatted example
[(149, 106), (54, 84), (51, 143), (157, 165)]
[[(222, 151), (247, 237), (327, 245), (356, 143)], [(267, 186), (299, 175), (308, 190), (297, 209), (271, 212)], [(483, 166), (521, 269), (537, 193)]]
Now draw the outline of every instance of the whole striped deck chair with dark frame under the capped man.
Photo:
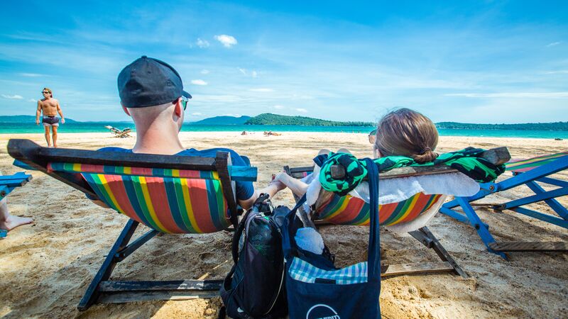
[[(256, 181), (256, 167), (231, 165), (228, 152), (186, 157), (40, 147), (9, 140), (16, 160), (98, 198), (129, 217), (77, 308), (93, 303), (212, 298), (222, 280), (109, 281), (118, 262), (158, 233), (214, 233), (238, 223), (234, 181)], [(87, 200), (87, 198), (85, 198)], [(131, 242), (138, 224), (151, 228)]]

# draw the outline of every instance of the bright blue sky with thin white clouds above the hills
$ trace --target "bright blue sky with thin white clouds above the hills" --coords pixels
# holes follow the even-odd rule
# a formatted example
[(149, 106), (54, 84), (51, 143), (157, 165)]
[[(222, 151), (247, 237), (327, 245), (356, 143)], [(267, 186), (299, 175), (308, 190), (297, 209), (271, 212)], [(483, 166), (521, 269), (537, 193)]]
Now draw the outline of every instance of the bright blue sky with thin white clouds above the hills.
[(9, 1), (0, 115), (125, 121), (116, 91), (141, 55), (180, 72), (186, 121), (279, 113), (375, 121), (568, 121), (568, 1)]

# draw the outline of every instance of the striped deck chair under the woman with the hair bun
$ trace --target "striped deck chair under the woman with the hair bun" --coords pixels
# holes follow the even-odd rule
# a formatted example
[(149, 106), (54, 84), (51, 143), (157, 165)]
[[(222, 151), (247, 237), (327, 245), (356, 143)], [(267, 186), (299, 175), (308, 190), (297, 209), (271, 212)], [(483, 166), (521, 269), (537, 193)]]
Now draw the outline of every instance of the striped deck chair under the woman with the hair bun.
[[(483, 156), (493, 164), (503, 164), (510, 159), (506, 147), (498, 147), (493, 150), (487, 150)], [(340, 165), (333, 165), (332, 177), (341, 179), (344, 177), (344, 168)], [(313, 171), (313, 167), (284, 167), (285, 172), (296, 179), (306, 177)], [(457, 172), (446, 165), (435, 165), (430, 167), (400, 167), (391, 169), (388, 172), (381, 172), (379, 179), (393, 179), (402, 177), (415, 177), (428, 174), (446, 174)], [(381, 225), (393, 225), (399, 222), (408, 222), (420, 216), (438, 201), (442, 201), (445, 196), (432, 194), (425, 195), (422, 193), (415, 194), (405, 201), (398, 203), (388, 203), (379, 206), (379, 223)], [(295, 196), (295, 201), (300, 198)], [(367, 225), (368, 224), (368, 203), (361, 198), (350, 195), (340, 197), (328, 191), (320, 191), (320, 195), (312, 208), (319, 216), (319, 220), (315, 220), (315, 225)], [(367, 213), (367, 216), (365, 216)], [(305, 218), (302, 218), (305, 220)], [(391, 264), (381, 266), (381, 276), (395, 276), (405, 274), (424, 274), (453, 272), (463, 278), (467, 278), (464, 272), (452, 256), (444, 249), (442, 244), (437, 240), (434, 234), (427, 227), (419, 228), (409, 232), (409, 234), (418, 240), (422, 245), (435, 251), (441, 262), (423, 262), (419, 264)]]

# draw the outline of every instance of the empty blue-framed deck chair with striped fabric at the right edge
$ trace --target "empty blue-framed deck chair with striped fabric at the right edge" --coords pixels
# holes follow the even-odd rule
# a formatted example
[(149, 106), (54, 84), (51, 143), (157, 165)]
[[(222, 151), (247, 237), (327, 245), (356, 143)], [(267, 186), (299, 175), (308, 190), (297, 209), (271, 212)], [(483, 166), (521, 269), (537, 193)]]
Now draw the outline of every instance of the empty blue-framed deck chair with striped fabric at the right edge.
[[(496, 211), (510, 210), (516, 213), (543, 220), (547, 223), (558, 225), (568, 229), (568, 210), (562, 206), (555, 198), (568, 195), (568, 181), (552, 179), (550, 175), (568, 169), (568, 152), (561, 152), (553, 155), (544, 155), (510, 161), (506, 164), (506, 169), (513, 173), (513, 177), (498, 183), (481, 184), (478, 194), (471, 197), (457, 197), (453, 201), (445, 203), (440, 209), (441, 213), (446, 214), (464, 223), (471, 223), (476, 229), (479, 237), (483, 240), (489, 252), (500, 255), (507, 259), (505, 252), (566, 252), (568, 245), (566, 242), (496, 242), (488, 225), (481, 221), (475, 213), (473, 206), (491, 206)], [(557, 189), (545, 191), (539, 184), (557, 186)], [(524, 198), (518, 198), (506, 203), (479, 204), (473, 203), (481, 198), (499, 191), (506, 191), (515, 187), (526, 185), (535, 194)], [(544, 202), (559, 217), (548, 213), (541, 213), (525, 206), (531, 203)], [(459, 213), (454, 210), (458, 206), (464, 211)]]

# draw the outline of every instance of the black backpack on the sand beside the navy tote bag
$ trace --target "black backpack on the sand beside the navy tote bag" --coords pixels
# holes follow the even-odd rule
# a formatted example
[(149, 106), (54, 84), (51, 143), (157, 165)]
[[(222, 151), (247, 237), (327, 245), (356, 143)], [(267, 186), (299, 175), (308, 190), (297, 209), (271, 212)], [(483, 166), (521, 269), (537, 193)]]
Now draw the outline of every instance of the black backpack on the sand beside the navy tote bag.
[(233, 236), (234, 265), (220, 291), (224, 307), (219, 318), (288, 314), (280, 225), (289, 211), (285, 206), (273, 210), (268, 195), (261, 195), (239, 223)]

